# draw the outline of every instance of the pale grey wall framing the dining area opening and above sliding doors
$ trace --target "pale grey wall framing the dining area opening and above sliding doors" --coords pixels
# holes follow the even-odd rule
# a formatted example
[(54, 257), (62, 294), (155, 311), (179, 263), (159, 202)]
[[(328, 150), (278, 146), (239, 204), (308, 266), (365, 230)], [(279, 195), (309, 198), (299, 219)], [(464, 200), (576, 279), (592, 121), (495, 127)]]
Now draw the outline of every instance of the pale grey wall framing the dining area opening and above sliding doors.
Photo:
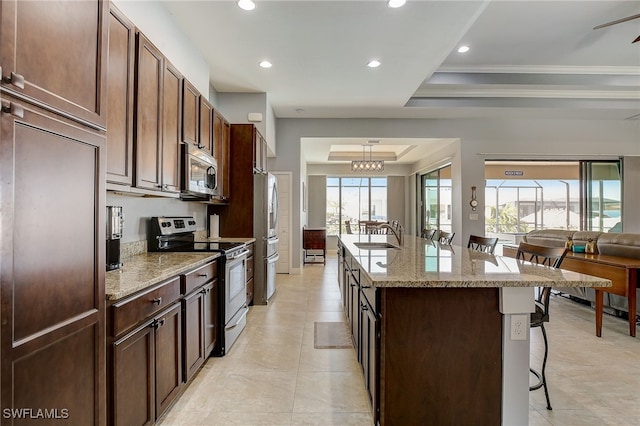
[[(304, 137), (359, 137), (375, 134), (380, 138), (452, 138), (449, 144), (410, 170), (416, 174), (427, 165), (451, 162), (454, 186), (455, 242), (460, 244), (470, 233), (484, 233), (484, 217), (477, 211), (478, 221), (470, 221), (471, 186), (484, 186), (485, 159), (522, 158), (618, 158), (640, 155), (640, 121), (638, 120), (560, 120), (560, 119), (287, 119), (277, 121), (278, 156), (269, 159), (276, 170), (292, 170), (293, 210), (300, 211), (301, 220), (294, 217), (292, 229), (292, 268), (301, 265), (301, 229), (305, 223), (300, 204), (300, 182), (306, 175), (306, 164), (300, 157), (300, 140)], [(444, 160), (443, 160), (444, 159)], [(271, 163), (272, 162), (272, 163)], [(299, 164), (299, 168), (295, 165)], [(637, 164), (635, 165), (637, 167)], [(309, 166), (314, 173), (315, 166)], [(415, 176), (414, 176), (415, 177)], [(638, 182), (627, 181), (628, 188)], [(410, 179), (410, 190), (414, 183)], [(483, 191), (478, 193), (483, 205)], [(409, 197), (407, 212), (415, 216), (415, 190)], [(625, 221), (637, 221), (640, 206), (624, 210)], [(626, 216), (631, 215), (631, 216)], [(413, 217), (415, 223), (415, 217)], [(626, 230), (626, 229), (625, 229)], [(295, 232), (299, 235), (296, 238)]]

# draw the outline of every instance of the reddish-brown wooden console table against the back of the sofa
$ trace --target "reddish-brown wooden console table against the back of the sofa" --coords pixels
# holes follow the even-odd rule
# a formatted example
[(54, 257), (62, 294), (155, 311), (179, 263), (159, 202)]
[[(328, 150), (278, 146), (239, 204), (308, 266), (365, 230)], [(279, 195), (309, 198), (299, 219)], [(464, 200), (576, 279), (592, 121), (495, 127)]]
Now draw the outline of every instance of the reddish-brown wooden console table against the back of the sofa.
[[(504, 256), (515, 257), (517, 246), (504, 245)], [(561, 269), (593, 275), (611, 280), (613, 286), (609, 288), (595, 287), (596, 291), (596, 336), (602, 336), (602, 313), (604, 310), (604, 293), (617, 294), (627, 298), (629, 304), (629, 335), (636, 337), (636, 301), (638, 271), (640, 259), (628, 257), (608, 256), (604, 254), (567, 253)]]

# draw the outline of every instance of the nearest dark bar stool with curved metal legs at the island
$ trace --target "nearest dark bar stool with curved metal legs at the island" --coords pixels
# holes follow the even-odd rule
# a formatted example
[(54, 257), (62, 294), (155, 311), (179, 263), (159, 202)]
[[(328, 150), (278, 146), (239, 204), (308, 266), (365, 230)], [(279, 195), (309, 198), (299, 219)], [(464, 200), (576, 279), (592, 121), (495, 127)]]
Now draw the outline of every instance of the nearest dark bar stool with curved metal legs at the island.
[[(565, 247), (546, 247), (521, 242), (516, 252), (516, 259), (525, 260), (540, 265), (559, 268), (567, 255), (568, 249)], [(531, 313), (531, 328), (540, 327), (542, 330), (542, 338), (544, 339), (544, 358), (542, 359), (542, 370), (539, 372), (533, 368), (529, 371), (536, 376), (538, 383), (529, 386), (529, 390), (537, 390), (544, 388), (544, 396), (547, 399), (547, 410), (551, 410), (551, 400), (549, 399), (549, 389), (547, 387), (547, 376), (545, 374), (547, 367), (547, 355), (549, 353), (549, 343), (547, 341), (547, 331), (544, 323), (549, 322), (549, 299), (551, 298), (551, 287), (536, 288), (535, 295), (535, 312)]]

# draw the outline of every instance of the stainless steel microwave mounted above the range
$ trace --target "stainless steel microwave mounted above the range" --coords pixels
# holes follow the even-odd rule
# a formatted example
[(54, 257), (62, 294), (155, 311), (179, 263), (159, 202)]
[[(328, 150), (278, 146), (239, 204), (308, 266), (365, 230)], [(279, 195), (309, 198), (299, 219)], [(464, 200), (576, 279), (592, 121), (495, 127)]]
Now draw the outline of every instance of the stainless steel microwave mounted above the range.
[(183, 143), (182, 190), (186, 200), (208, 199), (217, 195), (218, 162), (211, 154), (193, 145)]

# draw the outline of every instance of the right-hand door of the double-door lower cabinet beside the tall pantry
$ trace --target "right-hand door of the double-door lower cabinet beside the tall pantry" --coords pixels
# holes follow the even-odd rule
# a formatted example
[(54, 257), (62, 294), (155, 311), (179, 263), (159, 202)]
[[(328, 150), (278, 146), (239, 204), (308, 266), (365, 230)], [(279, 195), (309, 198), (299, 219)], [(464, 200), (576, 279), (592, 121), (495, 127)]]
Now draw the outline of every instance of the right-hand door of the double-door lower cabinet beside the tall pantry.
[(178, 396), (182, 386), (182, 312), (180, 303), (155, 319), (156, 419)]

